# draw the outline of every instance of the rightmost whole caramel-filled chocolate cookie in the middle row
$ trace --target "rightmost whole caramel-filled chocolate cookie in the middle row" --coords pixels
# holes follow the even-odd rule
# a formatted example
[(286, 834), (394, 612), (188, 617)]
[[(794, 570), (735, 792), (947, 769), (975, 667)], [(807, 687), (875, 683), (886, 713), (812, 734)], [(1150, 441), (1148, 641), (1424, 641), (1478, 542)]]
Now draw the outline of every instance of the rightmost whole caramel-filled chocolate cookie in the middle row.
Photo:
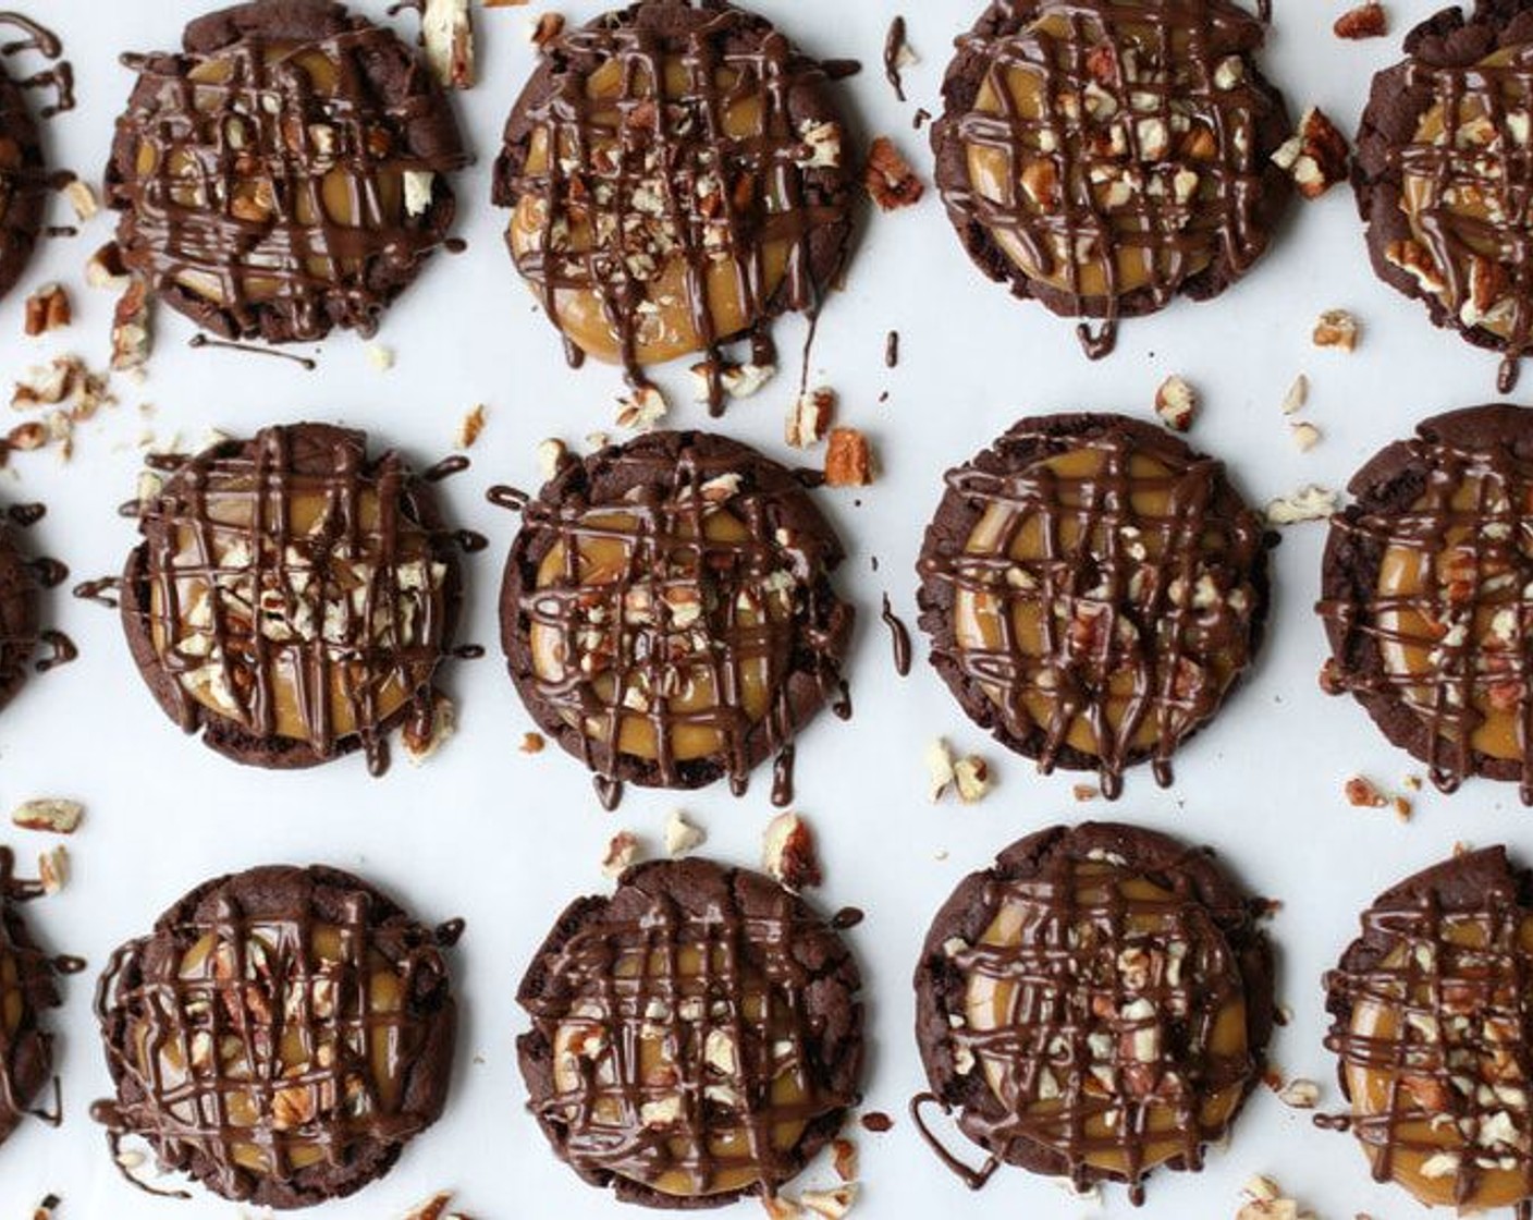
[(1096, 769), (1171, 755), (1251, 664), (1271, 536), (1225, 477), (1122, 416), (1024, 419), (947, 474), (918, 571), (932, 664), (1009, 749)]

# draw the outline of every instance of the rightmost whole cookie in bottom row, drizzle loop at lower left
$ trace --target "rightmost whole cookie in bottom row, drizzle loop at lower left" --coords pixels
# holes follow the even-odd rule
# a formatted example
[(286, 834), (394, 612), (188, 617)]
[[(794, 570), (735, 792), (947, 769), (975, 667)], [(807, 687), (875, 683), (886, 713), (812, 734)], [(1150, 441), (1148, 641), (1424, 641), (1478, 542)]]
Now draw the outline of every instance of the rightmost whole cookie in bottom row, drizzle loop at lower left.
[[(1128, 826), (1056, 826), (964, 879), (915, 970), (932, 1093), (912, 1114), (970, 1186), (1001, 1165), (1076, 1188), (1202, 1168), (1262, 1079), (1272, 953), (1206, 849)], [(931, 1105), (989, 1154), (964, 1168)]]

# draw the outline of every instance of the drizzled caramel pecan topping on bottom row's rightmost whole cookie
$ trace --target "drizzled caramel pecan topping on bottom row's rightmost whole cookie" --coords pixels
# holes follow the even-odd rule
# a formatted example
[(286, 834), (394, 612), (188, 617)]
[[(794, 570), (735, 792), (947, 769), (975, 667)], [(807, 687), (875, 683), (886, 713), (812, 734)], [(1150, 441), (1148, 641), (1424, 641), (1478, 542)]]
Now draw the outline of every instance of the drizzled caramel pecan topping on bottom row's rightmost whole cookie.
[(1239, 962), (1203, 907), (1093, 855), (995, 882), (978, 944), (946, 945), (964, 978), (955, 1068), (1001, 1103), (964, 1111), (989, 1146), (1042, 1145), (1078, 1182), (1137, 1188), (1165, 1162), (1197, 1168), (1257, 1067)]

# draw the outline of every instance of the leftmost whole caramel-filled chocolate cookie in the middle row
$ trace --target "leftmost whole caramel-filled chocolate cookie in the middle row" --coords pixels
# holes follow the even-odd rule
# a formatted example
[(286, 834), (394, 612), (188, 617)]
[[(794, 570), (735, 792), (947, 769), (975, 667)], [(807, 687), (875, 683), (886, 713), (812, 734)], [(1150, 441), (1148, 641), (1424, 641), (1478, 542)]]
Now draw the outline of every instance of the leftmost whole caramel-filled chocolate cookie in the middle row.
[(431, 485), (366, 434), (262, 428), (152, 459), (123, 629), (159, 706), (238, 763), (307, 767), (386, 735), (432, 735), (460, 603), (457, 540)]

